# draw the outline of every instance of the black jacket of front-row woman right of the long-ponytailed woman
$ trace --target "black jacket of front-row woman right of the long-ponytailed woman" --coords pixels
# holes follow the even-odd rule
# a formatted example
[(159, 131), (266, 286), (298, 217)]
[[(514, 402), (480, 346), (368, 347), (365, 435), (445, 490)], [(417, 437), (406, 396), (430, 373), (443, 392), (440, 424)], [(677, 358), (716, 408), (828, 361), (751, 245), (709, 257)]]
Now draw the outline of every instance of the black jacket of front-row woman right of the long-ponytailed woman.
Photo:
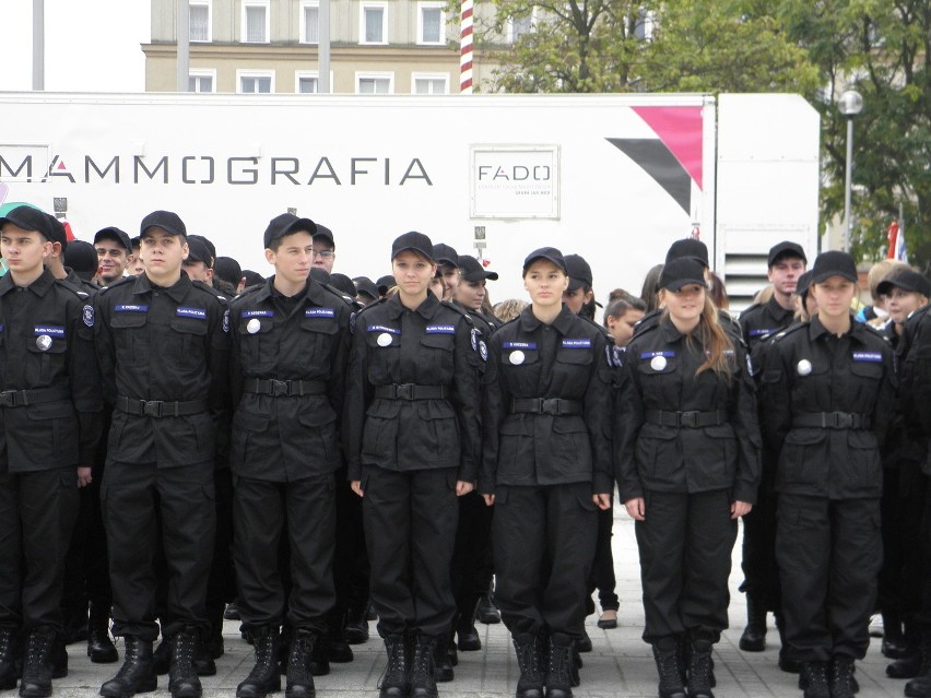
[[(882, 494), (880, 451), (896, 390), (893, 352), (879, 332), (851, 322), (838, 338), (814, 317), (777, 334), (763, 355), (761, 414), (764, 438), (779, 458), (777, 492), (830, 499)], [(828, 413), (858, 415), (861, 424), (797, 424)]]

